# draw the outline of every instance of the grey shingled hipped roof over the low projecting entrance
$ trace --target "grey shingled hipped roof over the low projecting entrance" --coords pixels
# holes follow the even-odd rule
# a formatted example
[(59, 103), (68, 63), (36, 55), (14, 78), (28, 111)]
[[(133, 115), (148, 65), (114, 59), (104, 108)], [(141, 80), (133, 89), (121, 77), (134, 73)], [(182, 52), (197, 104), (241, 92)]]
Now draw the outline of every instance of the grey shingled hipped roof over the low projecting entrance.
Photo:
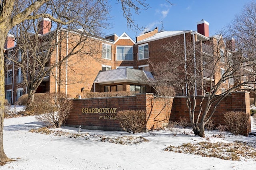
[(96, 77), (94, 83), (109, 84), (118, 82), (133, 82), (145, 84), (145, 80), (153, 80), (150, 72), (133, 68), (119, 68), (115, 70), (102, 71)]

